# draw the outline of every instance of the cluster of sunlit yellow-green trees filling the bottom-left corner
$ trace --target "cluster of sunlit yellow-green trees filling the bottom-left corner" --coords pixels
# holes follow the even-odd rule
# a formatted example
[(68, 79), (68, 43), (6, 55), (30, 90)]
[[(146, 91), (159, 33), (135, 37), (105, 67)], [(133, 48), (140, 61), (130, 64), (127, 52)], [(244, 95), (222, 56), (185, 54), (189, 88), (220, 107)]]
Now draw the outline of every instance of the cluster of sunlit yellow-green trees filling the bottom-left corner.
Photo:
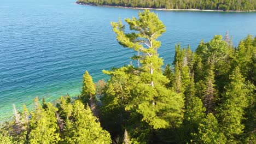
[(34, 101), (31, 112), (25, 105), (21, 112), (14, 107), (13, 121), (0, 130), (0, 143), (111, 143), (108, 131), (79, 99), (67, 95), (56, 106)]

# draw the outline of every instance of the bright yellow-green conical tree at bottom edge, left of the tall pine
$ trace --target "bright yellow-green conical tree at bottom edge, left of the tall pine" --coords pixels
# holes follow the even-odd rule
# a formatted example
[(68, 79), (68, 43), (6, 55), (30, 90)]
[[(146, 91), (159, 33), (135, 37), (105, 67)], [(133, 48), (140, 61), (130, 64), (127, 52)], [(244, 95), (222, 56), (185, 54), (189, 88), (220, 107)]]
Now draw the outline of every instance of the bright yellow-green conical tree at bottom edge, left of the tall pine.
[(66, 119), (63, 143), (111, 143), (108, 131), (96, 122), (90, 107), (84, 107), (81, 101), (75, 100), (72, 116)]

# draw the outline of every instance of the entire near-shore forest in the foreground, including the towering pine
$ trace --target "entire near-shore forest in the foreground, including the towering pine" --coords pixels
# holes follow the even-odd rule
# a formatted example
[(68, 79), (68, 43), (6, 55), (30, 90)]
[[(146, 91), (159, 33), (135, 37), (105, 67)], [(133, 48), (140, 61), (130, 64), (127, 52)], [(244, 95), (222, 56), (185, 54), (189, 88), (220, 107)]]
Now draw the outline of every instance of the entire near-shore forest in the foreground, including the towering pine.
[[(256, 38), (235, 47), (228, 34), (175, 46), (173, 63), (159, 57), (166, 32), (149, 10), (112, 22), (118, 43), (135, 51), (133, 65), (85, 71), (77, 98), (34, 99), (1, 125), (0, 143), (256, 143)], [(136, 62), (136, 63), (135, 63)]]

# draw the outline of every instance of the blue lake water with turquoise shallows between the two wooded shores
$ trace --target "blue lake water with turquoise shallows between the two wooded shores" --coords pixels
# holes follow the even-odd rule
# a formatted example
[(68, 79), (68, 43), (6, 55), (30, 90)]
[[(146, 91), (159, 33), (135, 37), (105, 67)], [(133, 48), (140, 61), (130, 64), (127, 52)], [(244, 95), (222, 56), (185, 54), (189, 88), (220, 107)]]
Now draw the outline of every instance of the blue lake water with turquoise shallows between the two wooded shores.
[[(71, 0), (2, 0), (0, 4), (0, 120), (12, 104), (33, 106), (33, 98), (53, 101), (79, 94), (85, 70), (94, 81), (102, 69), (129, 64), (133, 52), (119, 46), (110, 21), (137, 16), (138, 9), (92, 7)], [(256, 34), (256, 13), (155, 11), (167, 32), (160, 56), (171, 63), (174, 44), (190, 44), (228, 30), (233, 43)]]

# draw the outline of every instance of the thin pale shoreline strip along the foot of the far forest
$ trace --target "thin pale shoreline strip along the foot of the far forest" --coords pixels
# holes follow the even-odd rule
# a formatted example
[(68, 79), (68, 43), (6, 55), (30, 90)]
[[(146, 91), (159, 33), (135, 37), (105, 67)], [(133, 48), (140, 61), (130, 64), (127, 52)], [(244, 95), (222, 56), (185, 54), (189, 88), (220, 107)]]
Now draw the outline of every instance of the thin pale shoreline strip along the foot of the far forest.
[(256, 10), (211, 10), (211, 9), (165, 9), (165, 8), (139, 8), (139, 7), (123, 7), (123, 6), (113, 6), (113, 5), (96, 5), (96, 4), (85, 4), (85, 3), (78, 3), (74, 2), (74, 4), (80, 5), (91, 5), (96, 7), (112, 7), (112, 8), (124, 8), (124, 9), (149, 9), (149, 10), (162, 10), (162, 11), (211, 11), (211, 12), (236, 12), (236, 13), (248, 13), (248, 12), (256, 12)]

